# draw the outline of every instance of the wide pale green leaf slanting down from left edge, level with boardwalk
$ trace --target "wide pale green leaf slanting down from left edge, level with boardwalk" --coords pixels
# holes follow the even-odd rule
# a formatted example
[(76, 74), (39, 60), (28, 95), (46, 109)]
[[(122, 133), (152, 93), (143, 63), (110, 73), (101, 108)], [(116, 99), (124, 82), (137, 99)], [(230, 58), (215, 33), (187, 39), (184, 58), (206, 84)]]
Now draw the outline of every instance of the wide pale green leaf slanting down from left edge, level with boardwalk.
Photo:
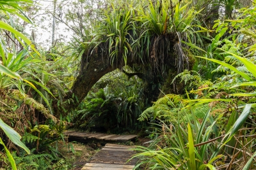
[(20, 141), (21, 136), (12, 129), (12, 127), (10, 127), (9, 125), (5, 124), (3, 122), (3, 120), (0, 118), (0, 127), (1, 129), (3, 129), (4, 133), (6, 134), (6, 136), (8, 136), (8, 138), (15, 143), (15, 145), (20, 146), (20, 148), (23, 148), (24, 150), (26, 150), (26, 152), (30, 153), (29, 149), (27, 148), (26, 145), (24, 145), (24, 143), (22, 143)]

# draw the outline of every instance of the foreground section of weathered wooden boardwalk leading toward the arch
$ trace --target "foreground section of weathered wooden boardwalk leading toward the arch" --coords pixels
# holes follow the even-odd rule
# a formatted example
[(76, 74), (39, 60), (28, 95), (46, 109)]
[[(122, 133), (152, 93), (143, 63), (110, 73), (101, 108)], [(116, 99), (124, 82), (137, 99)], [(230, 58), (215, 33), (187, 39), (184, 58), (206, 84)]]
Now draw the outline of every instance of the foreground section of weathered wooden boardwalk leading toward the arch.
[(127, 162), (135, 153), (132, 148), (107, 143), (81, 170), (132, 170), (136, 161)]

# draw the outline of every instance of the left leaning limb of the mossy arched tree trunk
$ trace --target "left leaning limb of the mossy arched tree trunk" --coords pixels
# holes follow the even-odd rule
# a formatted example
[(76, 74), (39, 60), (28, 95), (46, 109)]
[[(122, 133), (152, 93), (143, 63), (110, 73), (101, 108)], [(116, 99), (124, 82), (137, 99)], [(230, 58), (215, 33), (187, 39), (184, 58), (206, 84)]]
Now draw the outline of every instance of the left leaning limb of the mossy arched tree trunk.
[[(72, 99), (72, 102), (66, 102), (64, 106), (67, 111), (76, 108), (102, 76), (117, 68), (123, 67), (122, 62), (116, 62), (116, 64), (111, 66), (106, 53), (102, 53), (100, 50), (95, 51), (97, 51), (97, 53), (95, 52), (90, 56), (87, 53), (83, 53), (79, 74), (74, 81), (70, 92), (65, 97), (66, 101)], [(127, 65), (132, 64), (132, 62), (132, 57), (128, 57)]]

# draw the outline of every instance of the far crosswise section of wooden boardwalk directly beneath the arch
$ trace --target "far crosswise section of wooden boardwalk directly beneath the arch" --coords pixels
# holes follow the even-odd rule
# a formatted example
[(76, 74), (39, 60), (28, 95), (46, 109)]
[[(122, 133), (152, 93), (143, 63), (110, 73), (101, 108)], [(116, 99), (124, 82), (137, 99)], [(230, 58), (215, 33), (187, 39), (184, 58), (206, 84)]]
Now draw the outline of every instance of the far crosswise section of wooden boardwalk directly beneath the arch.
[(100, 143), (107, 142), (125, 142), (136, 138), (138, 135), (119, 135), (119, 134), (102, 134), (102, 133), (90, 133), (90, 132), (79, 132), (79, 131), (67, 131), (64, 132), (68, 136), (69, 141), (81, 141), (81, 142), (92, 142), (99, 141)]

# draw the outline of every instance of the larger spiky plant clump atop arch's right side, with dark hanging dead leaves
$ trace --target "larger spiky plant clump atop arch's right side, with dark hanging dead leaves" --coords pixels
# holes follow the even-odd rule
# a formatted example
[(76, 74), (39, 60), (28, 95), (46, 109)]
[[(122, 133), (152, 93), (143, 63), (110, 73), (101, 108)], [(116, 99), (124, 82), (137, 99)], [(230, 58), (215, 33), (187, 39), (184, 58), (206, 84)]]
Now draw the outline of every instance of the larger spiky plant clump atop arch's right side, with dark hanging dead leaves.
[(191, 38), (195, 32), (191, 22), (199, 12), (195, 11), (190, 3), (149, 1), (147, 6), (148, 8), (145, 8), (145, 5), (141, 5), (138, 8), (138, 17), (135, 20), (139, 23), (141, 31), (133, 43), (133, 48), (138, 51), (140, 59), (149, 60), (161, 71), (164, 70), (163, 65), (160, 65), (163, 64), (164, 57), (174, 50), (179, 73), (184, 65), (188, 67), (188, 57), (184, 53), (182, 43), (196, 43), (195, 39)]

